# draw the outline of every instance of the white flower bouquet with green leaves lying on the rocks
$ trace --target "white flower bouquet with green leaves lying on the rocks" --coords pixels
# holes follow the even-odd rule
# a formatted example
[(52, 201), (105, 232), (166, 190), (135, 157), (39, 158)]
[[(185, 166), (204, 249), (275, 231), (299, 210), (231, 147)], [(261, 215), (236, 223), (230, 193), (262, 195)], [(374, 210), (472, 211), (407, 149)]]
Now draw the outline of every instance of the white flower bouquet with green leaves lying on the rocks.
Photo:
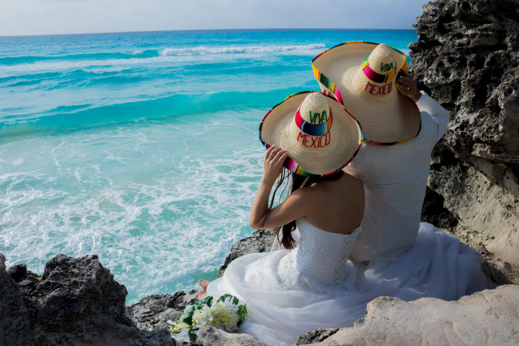
[(184, 314), (171, 324), (169, 332), (177, 342), (196, 341), (198, 329), (211, 326), (234, 333), (247, 316), (247, 303), (238, 305), (238, 298), (226, 294), (213, 302), (213, 297), (198, 300), (195, 305), (187, 306)]

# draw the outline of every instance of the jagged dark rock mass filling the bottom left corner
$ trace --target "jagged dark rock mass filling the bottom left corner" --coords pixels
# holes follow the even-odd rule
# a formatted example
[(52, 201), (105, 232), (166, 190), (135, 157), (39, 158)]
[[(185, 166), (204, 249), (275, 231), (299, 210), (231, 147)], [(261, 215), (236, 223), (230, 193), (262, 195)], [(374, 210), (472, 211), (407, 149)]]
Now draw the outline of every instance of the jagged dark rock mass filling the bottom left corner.
[(0, 254), (0, 344), (174, 345), (169, 333), (136, 327), (125, 314), (125, 286), (95, 255), (59, 254), (43, 275)]

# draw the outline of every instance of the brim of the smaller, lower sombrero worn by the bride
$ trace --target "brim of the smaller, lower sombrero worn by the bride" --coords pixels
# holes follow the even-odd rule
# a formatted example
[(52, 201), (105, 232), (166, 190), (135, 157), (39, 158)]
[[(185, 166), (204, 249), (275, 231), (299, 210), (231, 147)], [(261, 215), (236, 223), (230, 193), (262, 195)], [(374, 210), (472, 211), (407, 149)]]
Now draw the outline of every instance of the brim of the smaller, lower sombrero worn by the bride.
[[(269, 147), (275, 145), (289, 152), (290, 159), (284, 165), (299, 175), (327, 175), (345, 167), (357, 154), (362, 144), (362, 129), (359, 122), (342, 105), (327, 96), (333, 115), (330, 143), (319, 150), (306, 148), (290, 135), (299, 131), (294, 115), (309, 93), (303, 91), (288, 96), (272, 108), (260, 124), (260, 141)], [(295, 128), (294, 128), (295, 127)], [(324, 137), (323, 141), (324, 141)]]

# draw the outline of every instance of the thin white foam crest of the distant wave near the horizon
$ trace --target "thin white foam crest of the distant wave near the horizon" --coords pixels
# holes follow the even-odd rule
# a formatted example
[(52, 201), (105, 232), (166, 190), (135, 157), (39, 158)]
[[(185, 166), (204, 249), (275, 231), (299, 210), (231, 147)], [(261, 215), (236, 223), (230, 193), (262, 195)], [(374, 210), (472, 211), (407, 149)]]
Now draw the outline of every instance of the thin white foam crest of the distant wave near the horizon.
[(324, 44), (296, 45), (296, 46), (244, 46), (244, 47), (193, 47), (193, 48), (167, 48), (159, 52), (166, 56), (193, 56), (204, 54), (236, 54), (236, 53), (262, 53), (283, 52), (289, 50), (313, 50), (322, 49)]

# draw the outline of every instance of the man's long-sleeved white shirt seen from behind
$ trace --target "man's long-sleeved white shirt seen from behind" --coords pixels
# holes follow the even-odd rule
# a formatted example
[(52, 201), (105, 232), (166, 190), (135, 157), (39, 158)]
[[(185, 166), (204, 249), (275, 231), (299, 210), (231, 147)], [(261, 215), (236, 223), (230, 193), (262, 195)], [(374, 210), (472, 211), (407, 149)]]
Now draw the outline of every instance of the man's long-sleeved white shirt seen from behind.
[(344, 168), (362, 179), (365, 191), (361, 231), (350, 255), (354, 262), (393, 260), (415, 243), (432, 148), (449, 121), (447, 110), (424, 92), (416, 104), (422, 123), (415, 139), (391, 146), (365, 143)]

